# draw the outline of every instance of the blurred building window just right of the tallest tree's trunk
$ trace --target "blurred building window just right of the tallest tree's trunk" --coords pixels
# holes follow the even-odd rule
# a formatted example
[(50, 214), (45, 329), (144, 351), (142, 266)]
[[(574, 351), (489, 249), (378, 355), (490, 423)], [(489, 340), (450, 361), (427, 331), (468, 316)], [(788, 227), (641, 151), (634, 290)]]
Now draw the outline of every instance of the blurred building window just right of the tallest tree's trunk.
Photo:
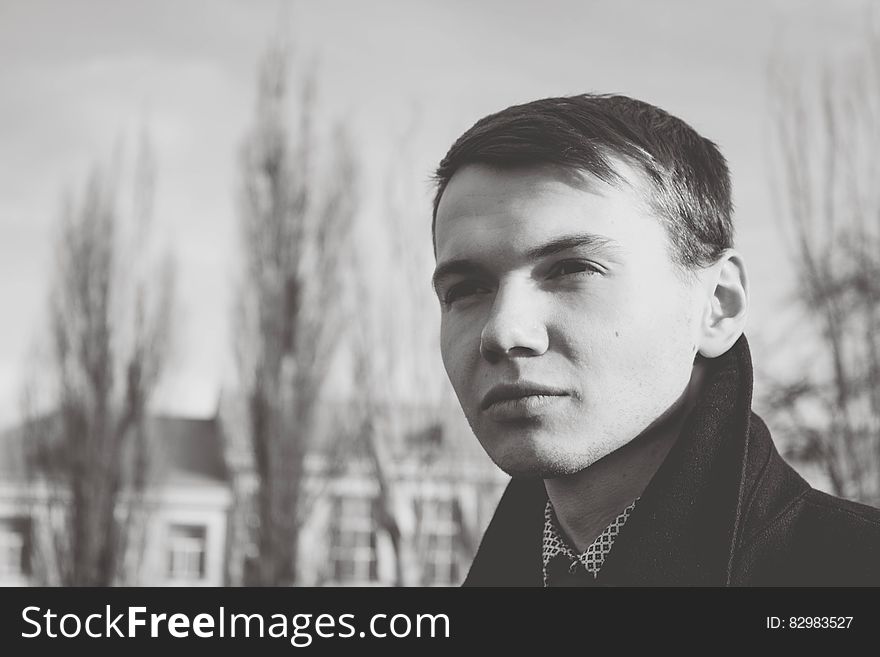
[(340, 584), (375, 582), (378, 577), (374, 501), (358, 497), (334, 500), (330, 526), (330, 566)]

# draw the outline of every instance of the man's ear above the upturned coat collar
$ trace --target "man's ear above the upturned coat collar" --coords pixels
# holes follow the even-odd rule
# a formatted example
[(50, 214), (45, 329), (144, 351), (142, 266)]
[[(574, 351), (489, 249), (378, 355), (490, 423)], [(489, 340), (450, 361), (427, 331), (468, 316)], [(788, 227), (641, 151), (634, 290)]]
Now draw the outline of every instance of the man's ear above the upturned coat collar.
[(745, 330), (749, 285), (743, 258), (733, 249), (727, 249), (705, 274), (708, 297), (697, 349), (706, 358), (716, 358)]

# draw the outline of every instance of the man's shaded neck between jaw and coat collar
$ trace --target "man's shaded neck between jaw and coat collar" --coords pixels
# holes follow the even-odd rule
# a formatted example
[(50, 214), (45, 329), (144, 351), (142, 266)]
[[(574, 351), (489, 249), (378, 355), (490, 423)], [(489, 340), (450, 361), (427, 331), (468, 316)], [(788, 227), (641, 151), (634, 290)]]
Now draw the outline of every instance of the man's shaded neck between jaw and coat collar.
[(588, 468), (544, 480), (559, 524), (578, 552), (641, 496), (678, 439), (703, 378), (704, 364), (698, 360), (687, 389), (664, 418)]

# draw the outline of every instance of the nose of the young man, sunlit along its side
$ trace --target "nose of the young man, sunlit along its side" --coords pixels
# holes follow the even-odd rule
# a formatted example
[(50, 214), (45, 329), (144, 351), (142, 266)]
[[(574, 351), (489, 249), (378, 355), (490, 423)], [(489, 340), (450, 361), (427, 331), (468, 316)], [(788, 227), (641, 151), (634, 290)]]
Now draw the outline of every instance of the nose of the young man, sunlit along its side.
[(528, 284), (501, 286), (480, 334), (480, 354), (490, 363), (504, 357), (540, 356), (548, 347), (537, 291)]

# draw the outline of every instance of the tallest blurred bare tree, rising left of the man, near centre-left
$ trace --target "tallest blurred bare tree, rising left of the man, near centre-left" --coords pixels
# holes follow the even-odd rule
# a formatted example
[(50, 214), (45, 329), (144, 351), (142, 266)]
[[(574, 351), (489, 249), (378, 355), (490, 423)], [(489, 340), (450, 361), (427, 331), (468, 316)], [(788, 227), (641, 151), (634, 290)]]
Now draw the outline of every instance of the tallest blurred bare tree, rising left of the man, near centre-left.
[(257, 475), (257, 555), (246, 573), (256, 585), (296, 579), (305, 457), (345, 329), (340, 271), (356, 209), (348, 137), (316, 125), (313, 74), (288, 102), (288, 68), (284, 48), (266, 52), (241, 156), (236, 351)]

